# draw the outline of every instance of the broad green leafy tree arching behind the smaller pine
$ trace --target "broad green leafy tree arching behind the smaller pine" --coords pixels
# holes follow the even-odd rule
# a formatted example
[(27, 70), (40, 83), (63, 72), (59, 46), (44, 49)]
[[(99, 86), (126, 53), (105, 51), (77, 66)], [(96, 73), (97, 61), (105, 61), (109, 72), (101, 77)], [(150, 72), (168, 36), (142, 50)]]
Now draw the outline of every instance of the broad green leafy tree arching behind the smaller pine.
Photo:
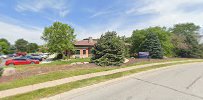
[(173, 56), (173, 44), (171, 43), (171, 33), (165, 27), (150, 27), (142, 30), (135, 30), (131, 36), (131, 53), (140, 51), (140, 44), (146, 39), (149, 33), (155, 33), (161, 43), (165, 56)]

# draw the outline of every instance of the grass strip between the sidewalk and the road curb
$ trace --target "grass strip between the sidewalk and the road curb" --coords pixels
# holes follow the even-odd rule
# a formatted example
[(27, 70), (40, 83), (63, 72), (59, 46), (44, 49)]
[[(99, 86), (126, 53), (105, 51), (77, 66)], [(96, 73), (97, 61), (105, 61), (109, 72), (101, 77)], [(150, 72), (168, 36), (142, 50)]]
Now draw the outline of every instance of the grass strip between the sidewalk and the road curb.
[(118, 72), (115, 74), (98, 76), (98, 77), (70, 82), (67, 84), (62, 84), (62, 85), (58, 85), (58, 86), (54, 86), (54, 87), (39, 89), (39, 90), (36, 90), (33, 92), (28, 92), (28, 93), (24, 93), (24, 94), (19, 94), (19, 95), (15, 95), (15, 96), (2, 98), (2, 100), (38, 100), (40, 98), (53, 96), (53, 95), (56, 95), (59, 93), (70, 91), (72, 89), (90, 86), (90, 85), (93, 85), (96, 83), (108, 81), (108, 80), (115, 79), (115, 78), (120, 78), (120, 77), (127, 76), (130, 74), (135, 74), (135, 73), (148, 71), (148, 70), (152, 70), (152, 69), (157, 69), (157, 68), (164, 68), (167, 66), (172, 66), (172, 65), (177, 65), (177, 64), (186, 64), (186, 63), (193, 63), (193, 62), (202, 62), (202, 61), (176, 62), (176, 63), (170, 63), (170, 64), (160, 64), (160, 65), (154, 65), (154, 66), (149, 66), (149, 67), (144, 67), (144, 68), (137, 68), (137, 69), (133, 69), (133, 70), (129, 70), (129, 71)]

